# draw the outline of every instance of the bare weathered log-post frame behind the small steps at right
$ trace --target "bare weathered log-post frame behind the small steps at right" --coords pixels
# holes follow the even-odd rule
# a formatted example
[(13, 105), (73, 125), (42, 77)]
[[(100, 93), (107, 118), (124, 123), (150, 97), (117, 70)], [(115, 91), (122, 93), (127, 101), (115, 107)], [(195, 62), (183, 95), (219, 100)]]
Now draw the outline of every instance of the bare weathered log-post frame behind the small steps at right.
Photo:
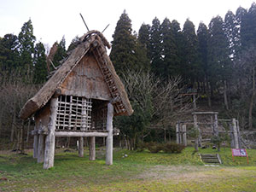
[[(202, 141), (210, 141), (212, 136), (229, 133), (231, 148), (241, 148), (241, 134), (239, 122), (236, 119), (218, 119), (218, 112), (194, 112), (193, 120), (178, 121), (176, 124), (176, 143), (187, 145), (187, 125), (193, 126), (199, 131), (198, 144)], [(229, 127), (226, 131), (224, 124)]]

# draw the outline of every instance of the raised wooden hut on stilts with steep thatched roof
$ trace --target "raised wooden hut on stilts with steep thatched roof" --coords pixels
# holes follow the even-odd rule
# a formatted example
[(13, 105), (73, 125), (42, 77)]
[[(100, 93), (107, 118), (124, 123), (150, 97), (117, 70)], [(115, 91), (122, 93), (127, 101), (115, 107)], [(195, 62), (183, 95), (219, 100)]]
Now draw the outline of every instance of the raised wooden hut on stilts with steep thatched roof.
[(133, 110), (106, 47), (101, 32), (87, 32), (21, 109), (21, 119), (34, 114), (33, 157), (44, 162), (44, 169), (54, 166), (55, 137), (79, 137), (79, 156), (83, 137), (90, 137), (90, 160), (96, 158), (95, 138), (107, 137), (106, 164), (113, 164), (113, 116)]

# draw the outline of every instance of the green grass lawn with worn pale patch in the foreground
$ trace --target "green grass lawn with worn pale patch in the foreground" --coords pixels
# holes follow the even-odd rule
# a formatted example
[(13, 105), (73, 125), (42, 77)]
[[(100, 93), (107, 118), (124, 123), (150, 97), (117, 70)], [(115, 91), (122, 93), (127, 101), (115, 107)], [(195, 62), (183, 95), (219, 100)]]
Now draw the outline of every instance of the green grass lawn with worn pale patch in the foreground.
[[(28, 155), (0, 152), (0, 191), (256, 191), (256, 150), (232, 160), (230, 148), (219, 153), (224, 165), (204, 166), (193, 148), (182, 154), (150, 154), (115, 149), (113, 166), (106, 166), (105, 151), (55, 154), (55, 167), (43, 170)], [(215, 154), (216, 150), (201, 149)], [(127, 154), (127, 157), (125, 157)]]

